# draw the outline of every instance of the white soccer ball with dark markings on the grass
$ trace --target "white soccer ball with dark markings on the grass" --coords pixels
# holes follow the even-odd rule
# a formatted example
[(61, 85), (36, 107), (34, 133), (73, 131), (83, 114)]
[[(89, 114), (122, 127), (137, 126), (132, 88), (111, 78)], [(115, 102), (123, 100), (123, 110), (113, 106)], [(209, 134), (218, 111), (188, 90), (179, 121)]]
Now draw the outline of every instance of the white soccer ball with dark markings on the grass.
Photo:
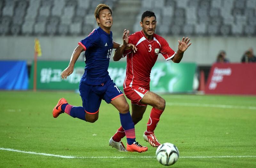
[(172, 143), (163, 143), (156, 149), (156, 160), (165, 166), (170, 166), (178, 161), (179, 150)]

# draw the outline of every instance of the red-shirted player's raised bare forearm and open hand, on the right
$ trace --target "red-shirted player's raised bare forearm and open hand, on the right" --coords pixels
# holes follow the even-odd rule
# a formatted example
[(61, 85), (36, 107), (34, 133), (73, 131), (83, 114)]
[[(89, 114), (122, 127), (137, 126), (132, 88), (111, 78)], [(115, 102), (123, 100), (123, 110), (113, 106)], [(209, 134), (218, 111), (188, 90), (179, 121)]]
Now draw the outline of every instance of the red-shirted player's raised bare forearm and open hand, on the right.
[(188, 49), (188, 47), (191, 45), (191, 43), (188, 43), (190, 39), (188, 37), (183, 37), (182, 40), (178, 40), (179, 46), (178, 46), (178, 51), (172, 58), (172, 61), (175, 63), (179, 63), (183, 57), (184, 52)]

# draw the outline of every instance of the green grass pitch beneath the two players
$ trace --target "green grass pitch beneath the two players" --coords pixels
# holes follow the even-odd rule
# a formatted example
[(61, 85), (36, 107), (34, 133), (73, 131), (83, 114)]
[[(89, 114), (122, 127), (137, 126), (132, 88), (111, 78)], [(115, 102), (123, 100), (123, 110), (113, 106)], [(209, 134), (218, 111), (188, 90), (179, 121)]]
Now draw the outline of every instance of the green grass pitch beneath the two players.
[[(135, 126), (136, 140), (147, 145), (148, 151), (118, 152), (108, 146), (120, 126), (112, 105), (102, 101), (95, 123), (67, 114), (53, 118), (52, 108), (61, 97), (72, 105), (82, 105), (79, 94), (73, 92), (0, 92), (0, 167), (165, 167), (154, 158), (156, 148), (142, 137), (150, 106)], [(174, 143), (180, 150), (178, 162), (171, 167), (256, 167), (256, 97), (162, 97), (166, 108), (155, 134), (161, 143)], [(126, 139), (123, 142), (126, 144)], [(6, 148), (76, 158), (3, 150)]]

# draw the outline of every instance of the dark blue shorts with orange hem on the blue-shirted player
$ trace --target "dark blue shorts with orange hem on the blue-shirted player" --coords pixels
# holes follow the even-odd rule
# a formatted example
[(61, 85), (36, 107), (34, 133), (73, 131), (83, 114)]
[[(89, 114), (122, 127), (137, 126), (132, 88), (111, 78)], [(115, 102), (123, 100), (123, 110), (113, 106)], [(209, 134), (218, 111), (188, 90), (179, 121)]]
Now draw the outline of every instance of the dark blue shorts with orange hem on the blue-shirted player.
[(102, 99), (110, 103), (117, 97), (124, 95), (111, 78), (101, 85), (88, 85), (80, 82), (79, 91), (83, 101), (83, 108), (88, 114), (99, 112)]

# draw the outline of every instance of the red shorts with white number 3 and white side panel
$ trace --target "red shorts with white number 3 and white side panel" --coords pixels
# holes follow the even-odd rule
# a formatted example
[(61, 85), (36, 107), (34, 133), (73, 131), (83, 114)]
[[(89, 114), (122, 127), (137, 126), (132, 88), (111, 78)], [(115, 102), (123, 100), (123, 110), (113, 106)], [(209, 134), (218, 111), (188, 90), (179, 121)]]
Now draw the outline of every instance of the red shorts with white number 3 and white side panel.
[(140, 86), (128, 86), (124, 88), (124, 94), (128, 99), (131, 100), (132, 104), (137, 104), (138, 106), (147, 106), (147, 104), (142, 104), (140, 100), (149, 91), (149, 86), (146, 88)]

